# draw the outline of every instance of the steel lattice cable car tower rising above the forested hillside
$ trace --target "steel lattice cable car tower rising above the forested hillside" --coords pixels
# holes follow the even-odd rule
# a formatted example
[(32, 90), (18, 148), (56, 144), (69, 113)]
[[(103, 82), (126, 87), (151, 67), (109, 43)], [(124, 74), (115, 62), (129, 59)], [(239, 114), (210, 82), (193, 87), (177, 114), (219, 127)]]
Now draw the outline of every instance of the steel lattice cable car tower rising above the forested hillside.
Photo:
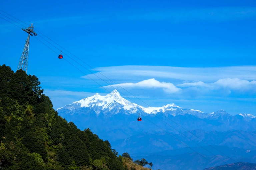
[(22, 29), (23, 31), (28, 33), (28, 38), (27, 38), (27, 41), (25, 43), (22, 55), (20, 57), (20, 63), (18, 65), (18, 69), (17, 70), (22, 69), (22, 70), (27, 72), (27, 67), (28, 67), (28, 51), (29, 51), (29, 38), (30, 38), (30, 35), (31, 36), (37, 36), (37, 34), (33, 31), (33, 28), (34, 28), (33, 24), (31, 24), (31, 27), (28, 27), (26, 29)]

